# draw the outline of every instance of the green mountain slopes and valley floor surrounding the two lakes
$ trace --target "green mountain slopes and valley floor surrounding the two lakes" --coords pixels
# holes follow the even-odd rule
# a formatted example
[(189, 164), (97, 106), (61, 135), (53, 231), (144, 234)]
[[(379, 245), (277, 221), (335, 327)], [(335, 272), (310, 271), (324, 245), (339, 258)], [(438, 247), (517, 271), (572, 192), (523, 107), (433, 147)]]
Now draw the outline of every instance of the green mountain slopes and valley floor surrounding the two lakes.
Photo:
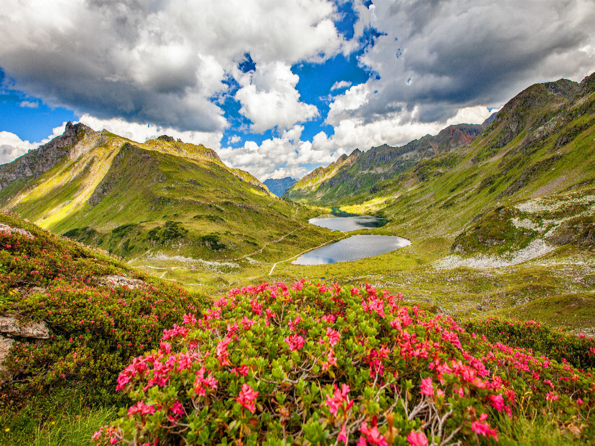
[[(433, 296), (458, 296), (464, 306), (441, 305), (464, 315), (498, 308), (502, 293), (506, 308), (553, 295), (575, 299), (595, 284), (595, 272), (575, 266), (595, 238), (594, 86), (595, 75), (580, 84), (535, 84), (481, 125), (452, 125), (402, 147), (353, 150), (306, 175), (283, 199), (204, 146), (168, 136), (137, 143), (68, 124), (62, 136), (0, 167), (0, 202), (200, 290), (303, 274), (358, 285), (372, 274), (378, 286), (405, 283), (411, 299), (430, 305)], [(358, 262), (289, 263), (349, 235), (306, 222), (331, 207), (383, 216), (388, 224), (372, 232), (412, 245)], [(534, 260), (552, 258), (555, 271)], [(527, 274), (490, 269), (520, 264)], [(459, 267), (471, 268), (465, 283), (474, 291), (450, 286)], [(500, 285), (483, 281), (486, 269)], [(403, 277), (415, 277), (415, 286)], [(570, 287), (574, 281), (581, 286)], [(583, 307), (592, 300), (581, 299)]]

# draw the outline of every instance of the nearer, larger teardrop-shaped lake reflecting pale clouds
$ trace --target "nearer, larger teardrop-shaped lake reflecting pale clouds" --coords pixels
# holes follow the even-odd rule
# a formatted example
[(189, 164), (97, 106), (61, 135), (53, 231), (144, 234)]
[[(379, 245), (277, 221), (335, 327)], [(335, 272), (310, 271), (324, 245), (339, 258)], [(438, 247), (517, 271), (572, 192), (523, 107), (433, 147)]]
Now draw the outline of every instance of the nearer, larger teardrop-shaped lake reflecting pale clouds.
[(409, 246), (411, 241), (396, 235), (352, 235), (322, 246), (293, 260), (295, 265), (324, 265), (379, 256)]

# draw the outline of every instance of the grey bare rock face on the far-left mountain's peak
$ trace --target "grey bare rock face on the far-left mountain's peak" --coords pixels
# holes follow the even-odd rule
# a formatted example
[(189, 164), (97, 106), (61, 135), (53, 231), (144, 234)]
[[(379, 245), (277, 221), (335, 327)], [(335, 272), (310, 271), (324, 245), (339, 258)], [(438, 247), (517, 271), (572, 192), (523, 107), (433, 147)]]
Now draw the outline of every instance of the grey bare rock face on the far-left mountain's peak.
[(15, 159), (14, 161), (0, 166), (0, 190), (18, 178), (39, 177), (43, 172), (48, 171), (58, 164), (64, 156), (69, 158), (73, 148), (79, 141), (79, 133), (96, 132), (84, 124), (73, 124), (68, 122), (64, 133), (55, 137), (49, 143), (39, 146), (38, 149), (30, 150), (29, 153)]

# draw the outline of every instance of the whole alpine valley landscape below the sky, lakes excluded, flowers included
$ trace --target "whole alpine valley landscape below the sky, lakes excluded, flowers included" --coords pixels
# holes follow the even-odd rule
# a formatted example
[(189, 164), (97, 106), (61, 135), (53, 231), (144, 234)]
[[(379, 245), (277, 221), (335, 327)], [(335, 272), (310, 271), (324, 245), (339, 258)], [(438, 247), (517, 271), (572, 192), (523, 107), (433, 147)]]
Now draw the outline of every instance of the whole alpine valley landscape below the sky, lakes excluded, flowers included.
[[(246, 444), (255, 444), (263, 443), (268, 435), (253, 430), (261, 422), (252, 417), (256, 410), (265, 414), (263, 419), (280, 420), (275, 421), (275, 435), (280, 436), (310, 413), (303, 432), (297, 427), (292, 435), (296, 441), (300, 435), (306, 438), (299, 444), (325, 444), (328, 432), (340, 438), (338, 414), (345, 414), (347, 419), (347, 413), (355, 413), (349, 412), (353, 404), (346, 397), (349, 387), (339, 390), (329, 384), (331, 381), (324, 381), (328, 376), (335, 379), (329, 368), (333, 360), (334, 365), (339, 360), (345, 363), (345, 372), (337, 369), (337, 376), (350, 380), (352, 391), (361, 391), (355, 406), (360, 404), (355, 417), (361, 414), (358, 426), (368, 414), (377, 413), (374, 420), (384, 420), (382, 429), (390, 444), (407, 444), (406, 434), (416, 429), (427, 429), (430, 438), (428, 426), (436, 431), (436, 441), (431, 444), (443, 444), (441, 440), (447, 435), (437, 429), (440, 426), (442, 432), (444, 419), (435, 418), (434, 412), (446, 404), (440, 402), (446, 400), (436, 399), (443, 398), (444, 393), (432, 400), (437, 406), (431, 406), (428, 401), (434, 397), (434, 387), (431, 379), (422, 376), (438, 367), (440, 360), (452, 369), (464, 369), (471, 352), (488, 365), (504, 364), (501, 368), (506, 379), (489, 373), (481, 375), (486, 382), (481, 381), (480, 374), (467, 381), (461, 378), (461, 382), (447, 378), (444, 385), (452, 387), (448, 404), (456, 409), (455, 414), (461, 414), (444, 424), (444, 432), (452, 432), (450, 439), (457, 439), (459, 444), (494, 442), (488, 439), (496, 435), (490, 425), (481, 425), (484, 433), (480, 436), (476, 430), (479, 425), (471, 422), (484, 422), (487, 415), (475, 415), (488, 406), (485, 401), (492, 401), (494, 417), (490, 420), (499, 420), (496, 425), (504, 444), (538, 444), (548, 435), (551, 444), (592, 441), (590, 409), (588, 414), (584, 409), (587, 406), (566, 411), (563, 404), (575, 404), (577, 398), (577, 404), (593, 404), (587, 375), (594, 365), (589, 351), (595, 351), (589, 347), (590, 336), (595, 335), (595, 74), (581, 83), (561, 79), (534, 84), (481, 125), (450, 125), (436, 136), (427, 135), (402, 147), (353, 147), (349, 156), (314, 169), (295, 184), (289, 186), (293, 178), (283, 180), (269, 183), (271, 189), (278, 186), (284, 190), (283, 196), (277, 197), (248, 172), (228, 167), (205, 146), (165, 135), (138, 143), (82, 123), (68, 123), (61, 136), (2, 165), (0, 202), (4, 213), (0, 216), (0, 234), (4, 249), (0, 283), (5, 316), (0, 318), (0, 325), (21, 327), (22, 321), (33, 321), (40, 326), (35, 334), (14, 328), (7, 335), (7, 351), (13, 343), (16, 347), (8, 356), (12, 361), (5, 363), (3, 370), (12, 378), (2, 388), (0, 420), (12, 423), (12, 431), (21, 432), (18, 438), (43, 436), (43, 432), (55, 431), (36, 417), (35, 408), (27, 401), (37, 401), (44, 413), (62, 413), (60, 406), (67, 400), (68, 413), (87, 413), (84, 408), (100, 401), (102, 409), (92, 412), (93, 417), (70, 423), (87, 423), (98, 429), (116, 417), (114, 407), (136, 401), (136, 406), (120, 412), (120, 433), (106, 430), (104, 434), (109, 431), (113, 438), (128, 435), (126, 429), (136, 425), (133, 421), (127, 425), (127, 420), (142, 414), (139, 423), (145, 431), (139, 428), (139, 432), (145, 434), (151, 429), (157, 432), (175, 427), (188, 431), (183, 434), (188, 435), (184, 437), (188, 444), (211, 444), (213, 438), (223, 435), (221, 426), (226, 425), (229, 441), (235, 438), (242, 444), (246, 438)], [(387, 224), (348, 233), (309, 224), (309, 218), (331, 211), (374, 215), (386, 219)], [(399, 235), (411, 245), (352, 262), (312, 266), (291, 263), (302, 253), (353, 234)], [(293, 283), (291, 291), (281, 282)], [(333, 284), (339, 285), (333, 288)], [(387, 291), (380, 297), (375, 289)], [(400, 292), (407, 307), (396, 303)], [(221, 297), (226, 293), (227, 297)], [(288, 300), (281, 304), (281, 299)], [(299, 315), (284, 306), (294, 300), (302, 312)], [(217, 308), (206, 310), (214, 302)], [(320, 311), (325, 315), (317, 313), (318, 309), (324, 309)], [(394, 346), (390, 344), (389, 350), (396, 349), (399, 361), (407, 358), (407, 368), (413, 370), (409, 375), (404, 368), (399, 369), (402, 364), (397, 360), (382, 365), (385, 347), (375, 343), (371, 333), (381, 331), (378, 324), (384, 323), (385, 311), (387, 315), (393, 311), (407, 314), (399, 316), (407, 323), (401, 326), (394, 319), (390, 325), (387, 322), (386, 329), (392, 326), (403, 335)], [(246, 317), (240, 319), (240, 312), (262, 319), (255, 325), (262, 329), (262, 336), (246, 335), (241, 348), (236, 343), (237, 350), (229, 356), (237, 363), (233, 371), (221, 369), (217, 379), (205, 375), (205, 365), (217, 361), (218, 365), (226, 364), (228, 344), (230, 351), (236, 348), (231, 343), (233, 335), (246, 326), (249, 331), (250, 324), (255, 323)], [(198, 315), (199, 322), (190, 313)], [(7, 315), (18, 315), (21, 322), (8, 321)], [(277, 327), (275, 318), (286, 316), (289, 322)], [(226, 321), (227, 317), (231, 319)], [(330, 324), (335, 319), (337, 324), (344, 324), (340, 325), (342, 337), (330, 325), (324, 327), (327, 331), (320, 328), (323, 322)], [(533, 322), (509, 322), (513, 319)], [(196, 328), (186, 337), (186, 328), (173, 325), (182, 320), (203, 331), (197, 334)], [(241, 328), (232, 324), (236, 320), (242, 321)], [(283, 334), (267, 331), (273, 330), (270, 321), (274, 329), (285, 330)], [(303, 331), (294, 331), (298, 323), (305, 327)], [(448, 330), (441, 331), (446, 326)], [(409, 344), (404, 341), (405, 328), (411, 330), (406, 335)], [(459, 328), (461, 342), (455, 335)], [(228, 335), (221, 340), (226, 330)], [(347, 331), (357, 343), (347, 337)], [(298, 334), (306, 332), (317, 334), (304, 344)], [(578, 333), (583, 335), (575, 336)], [(479, 335), (486, 335), (494, 344), (487, 344), (485, 336), (480, 341)], [(428, 337), (423, 346), (421, 341), (412, 341), (416, 336)], [(339, 353), (339, 345), (333, 342), (345, 344), (339, 345), (348, 353)], [(195, 370), (200, 379), (194, 381), (193, 375), (190, 382), (184, 378), (182, 357), (195, 351), (193, 343), (203, 343), (207, 354), (201, 359), (202, 372), (198, 366)], [(286, 343), (289, 353), (278, 353)], [(323, 352), (326, 362), (309, 363), (327, 344), (335, 348)], [(419, 353), (420, 348), (430, 345), (439, 352), (431, 356), (436, 363)], [(452, 346), (459, 346), (460, 351)], [(314, 353), (317, 348), (318, 353)], [(449, 348), (456, 354), (445, 353)], [(521, 352), (519, 348), (527, 350)], [(143, 356), (151, 349), (154, 353)], [(304, 351), (311, 352), (309, 359), (299, 356)], [(496, 358), (493, 351), (509, 356)], [(333, 356), (335, 352), (337, 357)], [(364, 355), (362, 352), (367, 359), (352, 362), (351, 358)], [(242, 355), (250, 354), (253, 358), (240, 367)], [(543, 362), (545, 356), (541, 355), (552, 359), (550, 369), (544, 365), (549, 365), (549, 360)], [(143, 374), (141, 365), (163, 359), (159, 364), (165, 368), (167, 358), (173, 358), (167, 360), (167, 367), (174, 370), (172, 364), (177, 364), (176, 373), (183, 371), (178, 375), (171, 371), (165, 378), (159, 378), (157, 371), (150, 376)], [(531, 375), (528, 368), (522, 368), (527, 363), (543, 366), (541, 378), (535, 378), (535, 370)], [(415, 407), (426, 411), (426, 424), (415, 425), (413, 403), (403, 406), (406, 416), (402, 419), (388, 421), (390, 398), (384, 390), (372, 392), (369, 381), (374, 370), (377, 378), (382, 375), (378, 372), (382, 367), (386, 367), (382, 379), (399, 379), (399, 373), (407, 377), (408, 385), (395, 385), (390, 392), (403, 392), (402, 401), (421, 398), (420, 406)], [(117, 378), (124, 368), (126, 371)], [(527, 375), (517, 379), (517, 368)], [(271, 375), (266, 375), (268, 372)], [(249, 386), (239, 390), (240, 384), (248, 385), (239, 380), (249, 376), (266, 378), (262, 378), (258, 391)], [(303, 381), (299, 381), (300, 376), (310, 379), (305, 387), (296, 384)], [(106, 390), (115, 387), (116, 378), (118, 389), (124, 389), (126, 395), (113, 397)], [(148, 380), (145, 388), (142, 379)], [(164, 381), (147, 391), (158, 379)], [(420, 379), (421, 394), (417, 392)], [(576, 388), (571, 389), (571, 381), (578, 382)], [(180, 417), (186, 414), (176, 406), (180, 401), (173, 402), (173, 393), (165, 395), (156, 390), (166, 382), (171, 384), (171, 392), (174, 387), (179, 391), (176, 398), (180, 400), (181, 394), (202, 392), (204, 396), (206, 392), (206, 403), (192, 400), (193, 416), (202, 425), (192, 422), (184, 428)], [(552, 382), (559, 387), (559, 403), (558, 394), (553, 397), (548, 387), (553, 388)], [(522, 386), (524, 394), (519, 390)], [(417, 393), (412, 397), (414, 387)], [(290, 403), (284, 399), (286, 388), (295, 390), (288, 397)], [(497, 389), (505, 388), (497, 393)], [(549, 396), (541, 398), (546, 391)], [(224, 392), (229, 395), (221, 396)], [(514, 392), (516, 396), (512, 397)], [(262, 404), (252, 407), (250, 401), (258, 394), (268, 395), (267, 399), (261, 401), (259, 397)], [(213, 395), (211, 400), (208, 395)], [(395, 395), (391, 398), (401, 398)], [(511, 407), (516, 398), (520, 409), (513, 409), (514, 422), (506, 414), (510, 409), (504, 406), (502, 395), (508, 395), (506, 404)], [(541, 396), (531, 400), (532, 395)], [(324, 397), (327, 401), (334, 398), (336, 406), (327, 404), (330, 411), (320, 409), (323, 403), (312, 403), (313, 398)], [(157, 411), (145, 404), (150, 398)], [(19, 409), (15, 415), (17, 412), (9, 410), (12, 403), (26, 409)], [(430, 404), (430, 409), (422, 403)], [(78, 409), (72, 409), (73, 405)], [(171, 413), (167, 412), (170, 406)], [(302, 412), (292, 412), (295, 407)], [(540, 414), (549, 414), (552, 420), (546, 416), (541, 420)], [(149, 417), (153, 418), (147, 422)], [(243, 421), (236, 424), (236, 419)], [(69, 423), (64, 416), (57, 416), (56, 422), (62, 426)], [(457, 428), (459, 424), (463, 427)], [(164, 428), (166, 425), (170, 427)], [(320, 426), (325, 426), (327, 434)], [(83, 432), (84, 426), (81, 429)], [(375, 424), (361, 431), (372, 429), (377, 429)], [(405, 434), (399, 436), (401, 431)], [(521, 431), (528, 433), (519, 434)], [(6, 441), (11, 438), (1, 434)], [(104, 441), (104, 434), (96, 434), (96, 441)], [(369, 444), (387, 444), (374, 443), (372, 434), (366, 437)], [(409, 435), (409, 444), (424, 444), (421, 437), (414, 443), (413, 434)], [(176, 438), (178, 441), (181, 436)], [(447, 444), (451, 444), (450, 439), (445, 440)], [(155, 444), (161, 444), (157, 441)], [(355, 444), (356, 437), (350, 441)], [(134, 444), (140, 444), (136, 436)], [(452, 444), (456, 444), (454, 439)]]

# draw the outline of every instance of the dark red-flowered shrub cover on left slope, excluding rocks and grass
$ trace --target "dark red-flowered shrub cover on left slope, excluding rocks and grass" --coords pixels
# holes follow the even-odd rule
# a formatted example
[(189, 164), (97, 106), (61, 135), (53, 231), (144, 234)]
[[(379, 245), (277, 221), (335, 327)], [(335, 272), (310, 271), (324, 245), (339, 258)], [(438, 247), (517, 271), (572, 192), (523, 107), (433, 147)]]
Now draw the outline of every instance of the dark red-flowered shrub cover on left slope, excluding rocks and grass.
[[(158, 346), (164, 328), (205, 301), (21, 219), (0, 215), (0, 222), (30, 233), (0, 230), (0, 313), (44, 321), (50, 333), (48, 340), (14, 344), (4, 361), (11, 379), (0, 406), (79, 384), (102, 403), (113, 402), (115, 378), (131, 357)], [(102, 280), (108, 275), (145, 284), (113, 288)]]

